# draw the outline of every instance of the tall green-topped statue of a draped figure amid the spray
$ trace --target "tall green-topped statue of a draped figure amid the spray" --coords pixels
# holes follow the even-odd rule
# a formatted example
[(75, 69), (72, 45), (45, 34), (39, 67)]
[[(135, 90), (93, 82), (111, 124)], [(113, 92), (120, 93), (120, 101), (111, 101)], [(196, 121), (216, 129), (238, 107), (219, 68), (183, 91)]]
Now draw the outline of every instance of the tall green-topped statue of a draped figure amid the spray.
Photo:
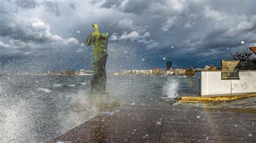
[(105, 94), (106, 92), (106, 59), (107, 59), (107, 37), (109, 33), (99, 33), (98, 25), (92, 24), (94, 32), (92, 32), (84, 45), (91, 45), (94, 48), (92, 64), (94, 65), (94, 73), (91, 81), (91, 91), (97, 94)]

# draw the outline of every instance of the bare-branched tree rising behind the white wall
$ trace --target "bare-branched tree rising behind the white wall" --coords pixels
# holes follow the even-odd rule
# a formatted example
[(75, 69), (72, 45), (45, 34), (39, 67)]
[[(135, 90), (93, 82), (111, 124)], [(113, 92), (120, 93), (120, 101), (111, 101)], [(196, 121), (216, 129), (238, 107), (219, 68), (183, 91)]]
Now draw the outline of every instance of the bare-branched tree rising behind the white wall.
[(230, 60), (249, 61), (253, 60), (253, 52), (249, 48), (243, 48), (237, 52), (230, 53)]

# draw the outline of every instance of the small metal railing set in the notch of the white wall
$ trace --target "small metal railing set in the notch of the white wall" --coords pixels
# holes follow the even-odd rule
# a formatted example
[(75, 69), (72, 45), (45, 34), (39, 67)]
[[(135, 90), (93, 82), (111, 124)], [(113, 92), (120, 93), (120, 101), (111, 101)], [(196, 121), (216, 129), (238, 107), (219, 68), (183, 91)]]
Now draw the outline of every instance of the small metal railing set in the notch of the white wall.
[(239, 70), (221, 69), (221, 80), (239, 80)]

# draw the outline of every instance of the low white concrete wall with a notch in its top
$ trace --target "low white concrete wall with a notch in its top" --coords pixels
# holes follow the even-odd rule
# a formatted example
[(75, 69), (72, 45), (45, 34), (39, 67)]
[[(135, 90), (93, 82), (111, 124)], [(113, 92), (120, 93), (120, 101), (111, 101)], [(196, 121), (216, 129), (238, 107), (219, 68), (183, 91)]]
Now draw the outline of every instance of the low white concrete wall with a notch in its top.
[(199, 71), (195, 75), (195, 91), (202, 96), (256, 92), (256, 71), (239, 71), (239, 78), (221, 80), (221, 71)]

